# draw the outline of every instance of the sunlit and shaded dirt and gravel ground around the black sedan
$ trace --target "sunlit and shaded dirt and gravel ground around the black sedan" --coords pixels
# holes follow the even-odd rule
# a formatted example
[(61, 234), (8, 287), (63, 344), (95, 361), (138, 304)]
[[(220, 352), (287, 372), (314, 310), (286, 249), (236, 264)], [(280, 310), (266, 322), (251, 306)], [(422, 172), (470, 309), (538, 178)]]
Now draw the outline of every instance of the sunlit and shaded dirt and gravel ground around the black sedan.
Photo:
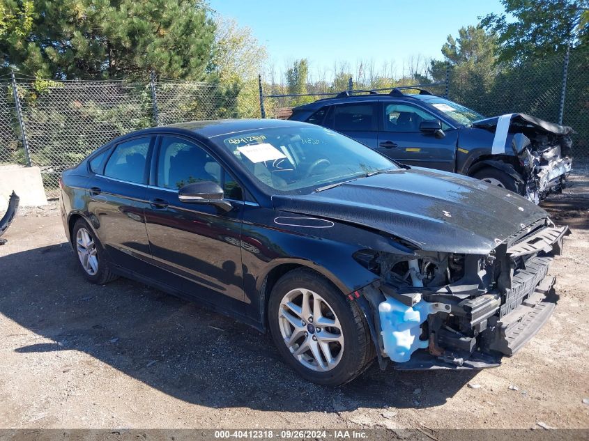
[(574, 233), (551, 267), (560, 301), (516, 356), (480, 372), (373, 365), (335, 389), (234, 320), (125, 279), (87, 284), (56, 204), (20, 210), (0, 247), (0, 427), (589, 428), (589, 169), (573, 180), (544, 203)]

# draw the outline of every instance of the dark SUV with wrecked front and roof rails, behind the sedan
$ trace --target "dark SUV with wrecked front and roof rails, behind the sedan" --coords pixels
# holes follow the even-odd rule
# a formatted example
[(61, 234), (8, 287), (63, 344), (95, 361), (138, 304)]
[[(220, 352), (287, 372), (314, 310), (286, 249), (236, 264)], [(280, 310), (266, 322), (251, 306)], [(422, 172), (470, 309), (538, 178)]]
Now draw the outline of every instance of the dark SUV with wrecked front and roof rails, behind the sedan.
[(485, 118), (421, 88), (345, 91), (296, 107), (289, 119), (337, 130), (404, 164), (485, 180), (535, 203), (560, 192), (571, 169), (571, 127), (526, 114)]

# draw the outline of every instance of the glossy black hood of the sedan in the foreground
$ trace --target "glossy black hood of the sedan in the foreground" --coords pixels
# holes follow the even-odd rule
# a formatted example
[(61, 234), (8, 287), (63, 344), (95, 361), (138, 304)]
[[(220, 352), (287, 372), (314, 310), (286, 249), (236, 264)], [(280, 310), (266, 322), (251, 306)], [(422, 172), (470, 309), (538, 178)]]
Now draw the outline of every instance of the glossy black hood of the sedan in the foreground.
[(273, 196), (276, 210), (384, 231), (421, 249), (487, 254), (547, 214), (481, 180), (429, 169), (399, 169), (301, 196)]

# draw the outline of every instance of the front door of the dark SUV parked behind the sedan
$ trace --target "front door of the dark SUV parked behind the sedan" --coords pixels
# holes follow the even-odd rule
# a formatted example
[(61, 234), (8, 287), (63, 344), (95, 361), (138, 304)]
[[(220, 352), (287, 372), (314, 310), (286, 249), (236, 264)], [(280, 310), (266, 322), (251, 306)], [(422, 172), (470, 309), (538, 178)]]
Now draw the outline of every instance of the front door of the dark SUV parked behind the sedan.
[(444, 137), (421, 132), (422, 121), (439, 118), (409, 102), (383, 101), (377, 150), (393, 160), (416, 167), (454, 171), (458, 130), (440, 121)]

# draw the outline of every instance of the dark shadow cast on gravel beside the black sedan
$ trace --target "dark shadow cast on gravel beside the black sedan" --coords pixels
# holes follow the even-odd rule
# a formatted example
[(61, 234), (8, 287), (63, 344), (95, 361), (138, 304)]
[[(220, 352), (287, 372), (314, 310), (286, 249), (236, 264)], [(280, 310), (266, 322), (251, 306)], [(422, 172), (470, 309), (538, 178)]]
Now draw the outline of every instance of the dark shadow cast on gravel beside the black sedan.
[(269, 335), (133, 281), (88, 284), (74, 259), (66, 242), (0, 258), (0, 313), (54, 341), (15, 352), (83, 351), (190, 403), (290, 412), (441, 405), (476, 374), (373, 364), (349, 385), (313, 385)]

